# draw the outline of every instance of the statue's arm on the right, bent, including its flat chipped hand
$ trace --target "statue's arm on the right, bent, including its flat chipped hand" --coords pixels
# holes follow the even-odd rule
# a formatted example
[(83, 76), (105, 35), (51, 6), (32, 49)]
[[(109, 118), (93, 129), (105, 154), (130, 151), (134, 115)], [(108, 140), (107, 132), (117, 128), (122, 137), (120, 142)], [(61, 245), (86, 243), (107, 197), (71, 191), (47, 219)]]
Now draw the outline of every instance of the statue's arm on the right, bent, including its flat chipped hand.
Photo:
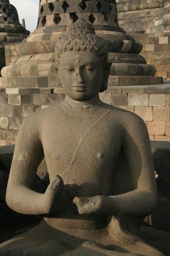
[(75, 197), (80, 214), (145, 217), (154, 211), (157, 191), (146, 125), (132, 115), (124, 119), (124, 127), (122, 147), (132, 191), (116, 196)]

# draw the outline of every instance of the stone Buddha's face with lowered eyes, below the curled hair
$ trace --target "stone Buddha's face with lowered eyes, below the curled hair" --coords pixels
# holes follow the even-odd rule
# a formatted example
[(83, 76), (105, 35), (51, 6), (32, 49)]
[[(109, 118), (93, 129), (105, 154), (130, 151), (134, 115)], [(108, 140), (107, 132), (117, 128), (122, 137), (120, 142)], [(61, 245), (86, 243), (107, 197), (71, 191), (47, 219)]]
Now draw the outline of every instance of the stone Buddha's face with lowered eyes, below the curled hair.
[(58, 75), (69, 98), (88, 100), (99, 94), (103, 82), (100, 58), (90, 51), (61, 54)]

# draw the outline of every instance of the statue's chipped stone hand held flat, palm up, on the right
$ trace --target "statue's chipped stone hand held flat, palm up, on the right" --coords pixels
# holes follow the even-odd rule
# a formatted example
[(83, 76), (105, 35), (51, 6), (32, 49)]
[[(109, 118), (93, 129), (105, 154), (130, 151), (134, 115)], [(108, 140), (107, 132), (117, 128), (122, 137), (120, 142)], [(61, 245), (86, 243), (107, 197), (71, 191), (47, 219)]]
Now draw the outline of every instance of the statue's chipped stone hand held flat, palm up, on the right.
[(119, 212), (116, 197), (74, 197), (73, 203), (81, 215), (117, 215)]

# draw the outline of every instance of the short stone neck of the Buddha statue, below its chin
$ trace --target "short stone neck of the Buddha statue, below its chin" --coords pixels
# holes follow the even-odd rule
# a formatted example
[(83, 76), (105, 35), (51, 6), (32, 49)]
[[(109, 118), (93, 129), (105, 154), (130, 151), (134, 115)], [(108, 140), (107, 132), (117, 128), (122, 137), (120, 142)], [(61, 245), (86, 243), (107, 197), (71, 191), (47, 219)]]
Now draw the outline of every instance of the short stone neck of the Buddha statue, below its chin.
[(88, 110), (96, 106), (99, 106), (101, 104), (101, 101), (99, 96), (96, 96), (94, 98), (91, 98), (85, 101), (74, 100), (66, 96), (63, 103), (67, 104), (70, 108), (75, 110)]

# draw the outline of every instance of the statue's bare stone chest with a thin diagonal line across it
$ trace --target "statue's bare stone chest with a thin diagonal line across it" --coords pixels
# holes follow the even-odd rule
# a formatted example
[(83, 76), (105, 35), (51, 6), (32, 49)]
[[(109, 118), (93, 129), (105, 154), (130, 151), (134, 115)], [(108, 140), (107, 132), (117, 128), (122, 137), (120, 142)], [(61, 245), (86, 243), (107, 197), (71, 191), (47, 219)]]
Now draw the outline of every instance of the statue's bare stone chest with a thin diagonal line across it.
[[(121, 148), (117, 123), (107, 117), (62, 117), (46, 130), (42, 139), (50, 176), (65, 183), (101, 183), (111, 178)], [(103, 177), (104, 176), (104, 177)]]

